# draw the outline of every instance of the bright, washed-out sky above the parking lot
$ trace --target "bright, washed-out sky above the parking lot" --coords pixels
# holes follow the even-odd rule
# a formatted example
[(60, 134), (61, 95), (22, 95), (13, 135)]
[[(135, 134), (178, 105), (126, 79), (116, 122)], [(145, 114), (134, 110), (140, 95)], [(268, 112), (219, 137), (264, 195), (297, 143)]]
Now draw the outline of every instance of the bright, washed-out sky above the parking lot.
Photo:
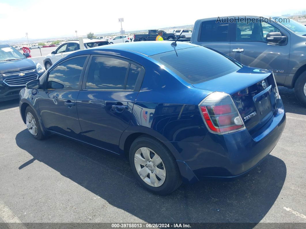
[(304, 1), (0, 0), (0, 40), (73, 36), (194, 24), (230, 15), (281, 15), (305, 10)]

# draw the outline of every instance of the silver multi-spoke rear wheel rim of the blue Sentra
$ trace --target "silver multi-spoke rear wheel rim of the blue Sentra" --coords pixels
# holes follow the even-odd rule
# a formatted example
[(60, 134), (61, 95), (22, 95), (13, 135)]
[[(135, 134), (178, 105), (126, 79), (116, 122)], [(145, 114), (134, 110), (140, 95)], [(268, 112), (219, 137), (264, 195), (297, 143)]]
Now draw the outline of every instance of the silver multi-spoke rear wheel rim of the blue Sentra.
[(166, 168), (157, 153), (147, 147), (136, 150), (134, 155), (136, 171), (141, 179), (152, 187), (161, 186), (166, 179)]

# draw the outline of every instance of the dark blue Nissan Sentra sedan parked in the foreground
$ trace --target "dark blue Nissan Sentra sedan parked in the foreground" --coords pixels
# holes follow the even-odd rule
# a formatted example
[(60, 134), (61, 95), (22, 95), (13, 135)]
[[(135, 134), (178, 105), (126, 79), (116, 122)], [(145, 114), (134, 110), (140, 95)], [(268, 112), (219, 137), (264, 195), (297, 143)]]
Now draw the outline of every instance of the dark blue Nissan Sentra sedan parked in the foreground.
[(58, 134), (127, 157), (157, 194), (245, 175), (285, 127), (271, 71), (187, 42), (74, 52), (21, 90), (20, 113), (35, 139)]

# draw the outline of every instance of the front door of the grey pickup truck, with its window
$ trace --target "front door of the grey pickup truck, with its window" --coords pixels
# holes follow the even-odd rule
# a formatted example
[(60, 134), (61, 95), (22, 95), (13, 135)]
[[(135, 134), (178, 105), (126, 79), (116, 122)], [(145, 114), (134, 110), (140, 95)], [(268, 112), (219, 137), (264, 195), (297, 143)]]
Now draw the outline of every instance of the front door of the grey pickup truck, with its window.
[[(281, 31), (276, 24), (259, 20), (256, 23), (237, 23), (236, 37), (230, 42), (230, 57), (243, 65), (273, 70), (276, 82), (283, 84), (288, 73), (290, 42), (284, 45), (268, 43), (266, 41), (268, 32)], [(285, 31), (282, 33), (290, 39), (289, 34)]]

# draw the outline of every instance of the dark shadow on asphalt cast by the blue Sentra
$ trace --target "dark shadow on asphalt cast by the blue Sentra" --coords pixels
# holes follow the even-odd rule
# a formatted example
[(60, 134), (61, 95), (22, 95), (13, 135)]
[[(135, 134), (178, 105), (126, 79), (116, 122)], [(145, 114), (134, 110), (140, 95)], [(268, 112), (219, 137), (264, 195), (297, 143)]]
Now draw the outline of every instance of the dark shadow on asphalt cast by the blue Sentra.
[[(278, 198), (287, 172), (281, 159), (268, 155), (236, 181), (201, 181), (181, 185), (173, 193), (160, 196), (140, 187), (129, 162), (113, 153), (54, 135), (37, 141), (26, 129), (17, 134), (16, 143), (33, 156), (20, 164), (21, 171), (36, 166), (32, 164), (35, 160), (43, 162), (114, 207), (149, 223), (258, 223)], [(103, 208), (96, 214), (103, 216)]]

